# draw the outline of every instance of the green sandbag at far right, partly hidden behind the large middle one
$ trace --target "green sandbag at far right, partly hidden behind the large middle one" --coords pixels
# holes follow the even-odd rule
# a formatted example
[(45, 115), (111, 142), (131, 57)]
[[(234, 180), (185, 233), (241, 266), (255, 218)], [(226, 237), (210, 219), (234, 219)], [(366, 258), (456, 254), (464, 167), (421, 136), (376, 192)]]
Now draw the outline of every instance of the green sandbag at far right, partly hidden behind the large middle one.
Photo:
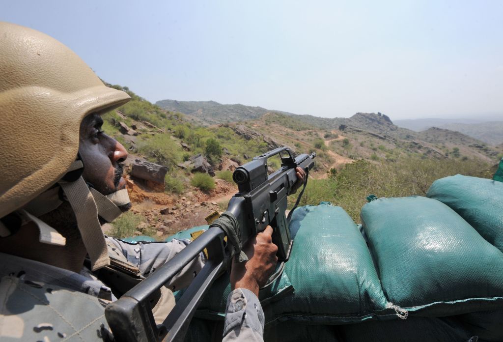
[(447, 204), (503, 251), (503, 183), (456, 175), (435, 181), (427, 196)]

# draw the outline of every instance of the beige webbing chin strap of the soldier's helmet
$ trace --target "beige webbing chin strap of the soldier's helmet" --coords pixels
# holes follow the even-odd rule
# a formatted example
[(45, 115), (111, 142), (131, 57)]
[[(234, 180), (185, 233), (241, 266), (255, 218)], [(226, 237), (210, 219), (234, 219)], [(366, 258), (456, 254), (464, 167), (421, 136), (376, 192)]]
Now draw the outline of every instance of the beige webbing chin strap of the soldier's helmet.
[[(68, 173), (80, 168), (83, 168), (82, 162), (75, 160), (68, 169)], [(71, 180), (63, 178), (58, 185), (75, 214), (82, 242), (91, 259), (92, 270), (96, 271), (110, 265), (105, 236), (98, 216), (111, 222), (122, 214), (119, 206), (130, 203), (127, 189), (105, 196), (94, 188), (90, 189), (79, 175), (78, 178), (74, 177)], [(61, 234), (36, 217), (56, 209), (62, 203), (58, 192), (58, 187), (49, 189), (24, 208), (27, 218), (37, 224), (40, 231), (39, 241), (42, 243), (65, 244), (65, 238)]]

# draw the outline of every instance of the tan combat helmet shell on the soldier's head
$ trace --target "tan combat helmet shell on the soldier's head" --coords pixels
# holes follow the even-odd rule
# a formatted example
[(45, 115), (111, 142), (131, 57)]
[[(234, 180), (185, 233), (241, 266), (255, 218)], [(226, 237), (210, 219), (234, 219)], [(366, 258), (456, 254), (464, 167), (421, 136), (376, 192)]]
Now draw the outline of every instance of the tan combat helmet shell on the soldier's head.
[(129, 99), (57, 40), (0, 22), (0, 217), (67, 172), (85, 116)]

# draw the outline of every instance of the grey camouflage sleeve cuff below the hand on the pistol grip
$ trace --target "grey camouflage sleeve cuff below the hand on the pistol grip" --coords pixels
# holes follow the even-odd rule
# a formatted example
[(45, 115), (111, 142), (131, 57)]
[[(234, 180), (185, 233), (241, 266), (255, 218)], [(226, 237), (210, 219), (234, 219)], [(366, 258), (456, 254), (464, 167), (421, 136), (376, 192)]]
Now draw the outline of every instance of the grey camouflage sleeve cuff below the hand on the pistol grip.
[(235, 289), (229, 294), (223, 341), (264, 341), (264, 311), (253, 292)]

